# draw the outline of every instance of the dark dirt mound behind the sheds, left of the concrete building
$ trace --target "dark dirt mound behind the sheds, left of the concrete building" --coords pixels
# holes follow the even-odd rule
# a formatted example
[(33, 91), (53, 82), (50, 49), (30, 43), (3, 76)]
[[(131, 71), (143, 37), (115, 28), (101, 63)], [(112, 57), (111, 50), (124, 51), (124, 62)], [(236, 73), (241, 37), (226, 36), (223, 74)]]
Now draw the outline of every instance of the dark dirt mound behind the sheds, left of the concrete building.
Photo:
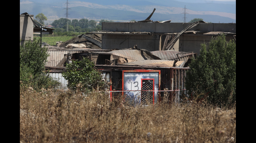
[[(91, 37), (101, 43), (101, 34), (86, 33), (84, 35)], [(63, 42), (59, 45), (59, 47), (66, 47), (68, 44), (84, 44), (84, 45), (86, 45), (86, 48), (101, 49), (99, 46), (90, 42), (89, 40), (87, 40), (86, 38), (84, 38), (82, 36), (77, 36), (73, 39)]]

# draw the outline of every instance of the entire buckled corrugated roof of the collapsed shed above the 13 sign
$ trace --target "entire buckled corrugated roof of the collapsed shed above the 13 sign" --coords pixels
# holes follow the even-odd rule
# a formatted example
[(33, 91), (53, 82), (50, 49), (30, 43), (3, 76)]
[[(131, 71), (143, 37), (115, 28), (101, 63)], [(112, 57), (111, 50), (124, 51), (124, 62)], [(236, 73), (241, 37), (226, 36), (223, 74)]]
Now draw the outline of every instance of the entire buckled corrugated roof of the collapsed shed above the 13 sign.
[[(163, 66), (175, 67), (188, 61), (191, 57), (196, 57), (194, 52), (178, 52), (178, 51), (152, 51), (145, 49), (124, 49), (103, 52), (82, 52), (73, 55), (86, 56), (93, 60), (97, 65), (139, 65), (139, 66)], [(178, 62), (177, 62), (178, 61)], [(182, 67), (184, 64), (182, 65)]]

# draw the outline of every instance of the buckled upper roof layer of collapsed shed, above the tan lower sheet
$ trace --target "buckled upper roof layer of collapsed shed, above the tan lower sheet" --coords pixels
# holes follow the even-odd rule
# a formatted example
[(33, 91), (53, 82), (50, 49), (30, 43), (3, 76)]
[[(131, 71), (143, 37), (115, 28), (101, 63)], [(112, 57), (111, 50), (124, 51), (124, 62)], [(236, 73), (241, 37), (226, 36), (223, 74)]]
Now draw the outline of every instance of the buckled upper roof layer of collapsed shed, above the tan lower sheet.
[(117, 65), (142, 60), (182, 60), (187, 62), (189, 58), (196, 57), (197, 54), (171, 50), (149, 52), (145, 49), (124, 49), (106, 52), (84, 52), (76, 55), (86, 55), (97, 65)]

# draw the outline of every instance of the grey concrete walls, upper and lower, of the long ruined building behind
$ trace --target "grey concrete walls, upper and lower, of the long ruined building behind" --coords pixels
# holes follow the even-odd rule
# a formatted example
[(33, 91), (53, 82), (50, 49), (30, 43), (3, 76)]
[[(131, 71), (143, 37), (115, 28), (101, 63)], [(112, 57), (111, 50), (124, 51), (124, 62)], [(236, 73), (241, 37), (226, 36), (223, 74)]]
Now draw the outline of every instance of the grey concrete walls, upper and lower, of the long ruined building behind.
[[(103, 22), (103, 31), (115, 32), (152, 32), (152, 33), (179, 33), (191, 23), (119, 23)], [(208, 32), (232, 32), (236, 33), (236, 23), (199, 23), (190, 30)], [(196, 52), (200, 54), (200, 44), (208, 43), (211, 35), (183, 34), (173, 46), (175, 51)], [(233, 39), (232, 36), (227, 40)], [(148, 51), (159, 50), (160, 35), (122, 35), (102, 34), (102, 49), (130, 48), (137, 44), (138, 48)], [(164, 40), (164, 39), (161, 39)], [(161, 45), (162, 46), (162, 45)]]

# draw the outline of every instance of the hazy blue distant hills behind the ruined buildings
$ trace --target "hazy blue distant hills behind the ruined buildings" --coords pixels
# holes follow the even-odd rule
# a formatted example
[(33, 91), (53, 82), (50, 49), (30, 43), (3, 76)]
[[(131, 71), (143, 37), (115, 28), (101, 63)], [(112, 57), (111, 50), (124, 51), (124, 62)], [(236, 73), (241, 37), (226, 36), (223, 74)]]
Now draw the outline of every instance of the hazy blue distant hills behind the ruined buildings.
[[(141, 21), (146, 19), (156, 8), (153, 21), (165, 21), (172, 19), (172, 22), (183, 22), (184, 6), (186, 6), (186, 22), (194, 18), (202, 18), (206, 22), (212, 23), (236, 23), (236, 3), (196, 0), (197, 3), (182, 2), (183, 0), (69, 0), (69, 19), (101, 19), (113, 20), (117, 22), (130, 21), (135, 19)], [(20, 1), (20, 14), (28, 12), (32, 15), (43, 13), (51, 23), (55, 19), (66, 18), (66, 3), (63, 0), (54, 1)]]

